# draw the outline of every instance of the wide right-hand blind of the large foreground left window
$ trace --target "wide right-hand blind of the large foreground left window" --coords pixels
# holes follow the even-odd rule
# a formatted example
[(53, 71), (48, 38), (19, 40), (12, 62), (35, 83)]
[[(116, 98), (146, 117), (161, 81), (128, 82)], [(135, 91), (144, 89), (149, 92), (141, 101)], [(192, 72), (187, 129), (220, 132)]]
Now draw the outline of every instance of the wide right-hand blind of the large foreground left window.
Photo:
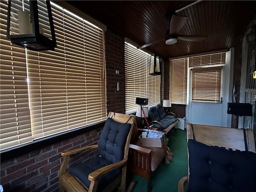
[(28, 50), (33, 138), (106, 119), (104, 32), (51, 7), (57, 48)]

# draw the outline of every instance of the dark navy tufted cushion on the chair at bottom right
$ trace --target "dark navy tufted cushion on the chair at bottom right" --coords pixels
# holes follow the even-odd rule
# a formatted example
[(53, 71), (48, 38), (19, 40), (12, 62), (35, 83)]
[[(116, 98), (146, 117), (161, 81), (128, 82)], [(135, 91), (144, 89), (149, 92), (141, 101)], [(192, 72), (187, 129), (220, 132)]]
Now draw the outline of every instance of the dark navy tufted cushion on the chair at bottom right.
[(256, 191), (256, 154), (188, 140), (188, 192)]

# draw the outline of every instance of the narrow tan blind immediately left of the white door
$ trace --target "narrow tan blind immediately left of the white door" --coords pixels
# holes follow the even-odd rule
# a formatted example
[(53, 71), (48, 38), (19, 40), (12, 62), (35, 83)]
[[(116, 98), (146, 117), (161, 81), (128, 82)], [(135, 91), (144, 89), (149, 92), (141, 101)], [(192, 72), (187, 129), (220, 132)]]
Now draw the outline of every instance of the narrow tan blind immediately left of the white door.
[(188, 59), (170, 60), (170, 100), (172, 103), (187, 102)]

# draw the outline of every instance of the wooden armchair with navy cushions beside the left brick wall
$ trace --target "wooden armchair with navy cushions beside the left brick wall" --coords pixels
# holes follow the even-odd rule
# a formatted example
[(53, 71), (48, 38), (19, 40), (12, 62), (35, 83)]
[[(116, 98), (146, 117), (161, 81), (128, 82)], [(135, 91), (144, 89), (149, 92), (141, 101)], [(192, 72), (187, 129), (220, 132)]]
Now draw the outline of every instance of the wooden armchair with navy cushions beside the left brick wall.
[[(135, 116), (110, 112), (98, 145), (63, 151), (60, 166), (60, 191), (113, 191), (121, 183), (126, 188), (126, 165)], [(68, 168), (70, 155), (98, 148), (100, 156)]]

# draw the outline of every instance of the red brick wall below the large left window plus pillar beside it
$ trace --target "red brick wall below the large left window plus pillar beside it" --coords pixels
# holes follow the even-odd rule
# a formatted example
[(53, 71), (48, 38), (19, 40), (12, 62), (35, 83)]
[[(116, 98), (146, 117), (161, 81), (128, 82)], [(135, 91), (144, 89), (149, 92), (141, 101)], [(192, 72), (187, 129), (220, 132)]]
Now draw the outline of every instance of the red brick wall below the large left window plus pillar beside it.
[[(119, 74), (115, 74), (119, 70)], [(108, 29), (106, 32), (107, 111), (125, 112), (124, 37)], [(120, 91), (116, 91), (120, 82)], [(97, 144), (102, 128), (62, 140), (22, 156), (1, 162), (0, 184), (4, 192), (58, 192), (58, 175), (62, 157), (60, 152)], [(70, 159), (70, 163), (90, 158), (97, 151), (89, 151)]]

